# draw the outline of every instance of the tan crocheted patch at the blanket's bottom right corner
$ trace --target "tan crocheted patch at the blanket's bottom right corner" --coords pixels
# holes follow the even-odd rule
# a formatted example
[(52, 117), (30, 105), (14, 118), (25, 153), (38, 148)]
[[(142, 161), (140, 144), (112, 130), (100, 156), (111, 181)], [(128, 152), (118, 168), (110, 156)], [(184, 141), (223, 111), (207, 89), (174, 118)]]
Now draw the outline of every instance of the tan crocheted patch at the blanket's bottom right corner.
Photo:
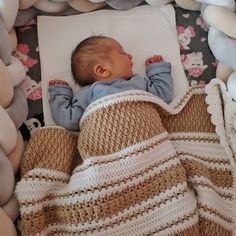
[(223, 226), (199, 216), (200, 235), (206, 236), (232, 236), (230, 230), (225, 229)]

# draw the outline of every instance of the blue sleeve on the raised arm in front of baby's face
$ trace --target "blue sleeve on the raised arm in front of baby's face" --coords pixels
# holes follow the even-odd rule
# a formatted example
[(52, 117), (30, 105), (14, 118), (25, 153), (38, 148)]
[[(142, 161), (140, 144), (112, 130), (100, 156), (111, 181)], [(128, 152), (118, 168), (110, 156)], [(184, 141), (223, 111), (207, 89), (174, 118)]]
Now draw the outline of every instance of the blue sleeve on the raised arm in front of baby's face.
[(148, 92), (154, 93), (169, 103), (173, 99), (173, 79), (169, 62), (157, 62), (147, 66), (146, 73), (149, 78)]

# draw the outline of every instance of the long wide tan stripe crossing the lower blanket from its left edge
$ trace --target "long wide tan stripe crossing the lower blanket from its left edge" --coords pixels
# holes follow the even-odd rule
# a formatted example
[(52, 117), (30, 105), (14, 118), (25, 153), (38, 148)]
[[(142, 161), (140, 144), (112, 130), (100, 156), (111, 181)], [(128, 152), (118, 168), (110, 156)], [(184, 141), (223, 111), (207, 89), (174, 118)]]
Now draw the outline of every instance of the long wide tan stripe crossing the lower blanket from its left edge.
[[(181, 165), (172, 166), (164, 172), (153, 176), (139, 185), (127, 188), (119, 193), (112, 193), (103, 198), (94, 199), (88, 202), (76, 203), (64, 206), (46, 206), (42, 211), (32, 214), (23, 214), (26, 231), (36, 234), (47, 227), (49, 224), (78, 224), (98, 221), (111, 217), (112, 215), (122, 212), (124, 209), (146, 201), (154, 196), (158, 196), (161, 192), (177, 186), (185, 181), (185, 173)], [(181, 193), (175, 193), (172, 197), (163, 200), (160, 204), (172, 198), (178, 198)], [(150, 208), (154, 208), (151, 206)], [(145, 209), (144, 212), (150, 209)], [(142, 212), (143, 213), (143, 212)], [(138, 214), (142, 214), (141, 212)], [(131, 219), (132, 217), (130, 217)], [(32, 223), (32, 219), (37, 219)], [(127, 220), (127, 219), (126, 219)], [(122, 220), (123, 221), (123, 220)], [(30, 223), (28, 225), (28, 223)], [(118, 222), (117, 222), (118, 223)]]

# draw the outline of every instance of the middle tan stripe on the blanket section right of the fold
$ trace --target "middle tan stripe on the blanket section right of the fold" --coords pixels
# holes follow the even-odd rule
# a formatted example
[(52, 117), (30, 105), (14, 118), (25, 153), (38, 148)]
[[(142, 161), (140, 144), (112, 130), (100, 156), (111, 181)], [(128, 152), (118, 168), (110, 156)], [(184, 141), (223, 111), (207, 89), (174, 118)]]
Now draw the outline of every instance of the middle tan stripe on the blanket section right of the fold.
[(195, 160), (181, 160), (188, 177), (203, 176), (212, 181), (218, 187), (233, 187), (233, 176), (231, 171), (208, 168)]

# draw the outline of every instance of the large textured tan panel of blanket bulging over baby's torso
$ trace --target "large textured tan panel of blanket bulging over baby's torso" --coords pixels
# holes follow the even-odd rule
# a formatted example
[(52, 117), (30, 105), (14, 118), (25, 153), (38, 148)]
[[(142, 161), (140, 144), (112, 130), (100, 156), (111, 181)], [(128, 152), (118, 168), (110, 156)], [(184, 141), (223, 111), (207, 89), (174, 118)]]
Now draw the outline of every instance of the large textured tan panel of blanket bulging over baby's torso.
[(88, 116), (82, 123), (78, 146), (83, 159), (108, 155), (164, 131), (153, 104), (124, 102)]

